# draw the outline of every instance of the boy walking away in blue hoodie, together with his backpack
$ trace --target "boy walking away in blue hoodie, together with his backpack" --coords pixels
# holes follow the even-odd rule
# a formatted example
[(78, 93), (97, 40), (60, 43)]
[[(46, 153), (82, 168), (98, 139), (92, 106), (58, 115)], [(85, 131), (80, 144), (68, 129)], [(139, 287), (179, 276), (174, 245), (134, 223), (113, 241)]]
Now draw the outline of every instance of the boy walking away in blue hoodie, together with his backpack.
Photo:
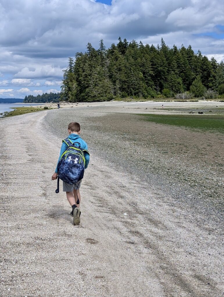
[(63, 192), (66, 192), (68, 202), (72, 207), (71, 216), (73, 216), (74, 225), (79, 225), (81, 211), (80, 206), (80, 184), (84, 175), (84, 169), (90, 162), (87, 143), (79, 136), (79, 123), (72, 122), (68, 125), (68, 137), (62, 140), (60, 156), (57, 166), (51, 179), (58, 178), (63, 181)]

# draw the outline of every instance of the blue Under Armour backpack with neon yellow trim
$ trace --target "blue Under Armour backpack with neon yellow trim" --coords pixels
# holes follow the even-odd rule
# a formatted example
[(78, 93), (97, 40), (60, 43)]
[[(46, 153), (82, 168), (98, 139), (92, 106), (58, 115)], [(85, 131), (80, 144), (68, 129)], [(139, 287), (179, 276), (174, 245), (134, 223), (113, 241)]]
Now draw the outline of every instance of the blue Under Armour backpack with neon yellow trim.
[(84, 152), (89, 154), (86, 149), (81, 148), (81, 144), (79, 142), (73, 143), (69, 138), (65, 140), (63, 139), (62, 141), (64, 141), (68, 147), (58, 162), (56, 193), (59, 193), (59, 179), (65, 181), (67, 184), (75, 184), (83, 178), (85, 170)]

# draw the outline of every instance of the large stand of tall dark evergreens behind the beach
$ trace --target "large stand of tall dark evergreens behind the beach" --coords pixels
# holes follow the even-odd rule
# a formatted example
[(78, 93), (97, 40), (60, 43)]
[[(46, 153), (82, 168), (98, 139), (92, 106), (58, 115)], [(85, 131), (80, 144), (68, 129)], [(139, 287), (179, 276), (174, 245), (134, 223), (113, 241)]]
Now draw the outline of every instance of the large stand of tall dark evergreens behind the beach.
[[(224, 94), (224, 63), (194, 53), (191, 45), (169, 48), (164, 40), (155, 47), (135, 40), (118, 39), (106, 49), (103, 40), (95, 49), (68, 58), (61, 99), (104, 101), (116, 97), (174, 97), (187, 92), (202, 97), (208, 90)], [(209, 93), (209, 94), (210, 94)]]

